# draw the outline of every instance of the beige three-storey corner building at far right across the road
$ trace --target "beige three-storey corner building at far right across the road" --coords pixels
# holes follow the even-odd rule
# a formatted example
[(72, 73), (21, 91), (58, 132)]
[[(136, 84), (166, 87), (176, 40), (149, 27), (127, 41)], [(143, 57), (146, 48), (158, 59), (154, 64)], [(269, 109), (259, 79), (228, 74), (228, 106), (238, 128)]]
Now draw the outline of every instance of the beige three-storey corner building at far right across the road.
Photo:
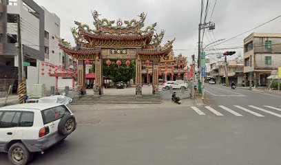
[(271, 71), (281, 66), (281, 33), (252, 33), (244, 39), (244, 80), (267, 86)]

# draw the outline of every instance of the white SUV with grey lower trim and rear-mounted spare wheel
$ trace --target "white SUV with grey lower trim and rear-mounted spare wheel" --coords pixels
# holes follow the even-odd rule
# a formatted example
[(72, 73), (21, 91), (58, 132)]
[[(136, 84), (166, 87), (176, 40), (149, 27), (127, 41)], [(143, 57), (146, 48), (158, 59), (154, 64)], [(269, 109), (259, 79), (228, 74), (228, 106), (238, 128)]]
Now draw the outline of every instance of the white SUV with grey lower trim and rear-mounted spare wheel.
[(29, 103), (0, 108), (0, 152), (12, 164), (27, 164), (32, 153), (64, 140), (76, 129), (73, 113), (64, 104)]

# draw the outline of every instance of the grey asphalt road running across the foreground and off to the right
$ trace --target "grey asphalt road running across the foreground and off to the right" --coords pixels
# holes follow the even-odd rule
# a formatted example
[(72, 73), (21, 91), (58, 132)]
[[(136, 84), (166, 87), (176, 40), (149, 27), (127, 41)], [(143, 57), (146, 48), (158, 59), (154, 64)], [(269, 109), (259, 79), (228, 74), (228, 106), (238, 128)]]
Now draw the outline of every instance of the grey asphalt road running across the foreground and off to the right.
[[(30, 164), (280, 165), (280, 96), (219, 85), (207, 90), (214, 95), (207, 92), (204, 106), (72, 109), (76, 131)], [(5, 153), (0, 164), (8, 164)]]

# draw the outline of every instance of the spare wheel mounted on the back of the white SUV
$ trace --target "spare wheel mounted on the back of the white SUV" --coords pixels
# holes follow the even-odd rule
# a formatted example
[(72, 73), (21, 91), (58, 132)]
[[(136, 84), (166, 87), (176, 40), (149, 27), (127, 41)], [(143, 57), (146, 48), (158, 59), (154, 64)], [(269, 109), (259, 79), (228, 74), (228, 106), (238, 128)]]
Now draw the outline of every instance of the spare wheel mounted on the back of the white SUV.
[(72, 115), (65, 115), (59, 122), (58, 131), (62, 135), (70, 135), (75, 129), (75, 118)]

